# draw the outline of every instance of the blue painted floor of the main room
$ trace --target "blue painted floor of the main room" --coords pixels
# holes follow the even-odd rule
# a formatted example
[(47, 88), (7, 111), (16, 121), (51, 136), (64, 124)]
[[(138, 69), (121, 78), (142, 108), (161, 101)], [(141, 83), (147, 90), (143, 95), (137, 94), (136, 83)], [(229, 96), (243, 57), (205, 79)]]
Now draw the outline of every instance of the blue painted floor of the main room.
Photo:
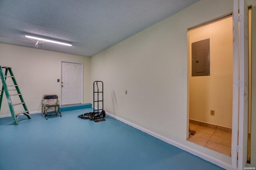
[(106, 116), (80, 119), (92, 111), (63, 111), (62, 117), (32, 114), (0, 119), (0, 170), (218, 170), (210, 162)]

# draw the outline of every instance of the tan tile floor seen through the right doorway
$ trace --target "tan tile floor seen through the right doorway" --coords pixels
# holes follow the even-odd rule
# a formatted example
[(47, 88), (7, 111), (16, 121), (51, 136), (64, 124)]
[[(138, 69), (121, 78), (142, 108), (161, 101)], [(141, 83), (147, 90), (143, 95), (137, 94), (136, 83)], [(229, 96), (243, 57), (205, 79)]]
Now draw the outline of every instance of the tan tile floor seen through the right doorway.
[(195, 130), (195, 135), (191, 135), (188, 141), (231, 156), (231, 133), (212, 129), (189, 123), (190, 129)]

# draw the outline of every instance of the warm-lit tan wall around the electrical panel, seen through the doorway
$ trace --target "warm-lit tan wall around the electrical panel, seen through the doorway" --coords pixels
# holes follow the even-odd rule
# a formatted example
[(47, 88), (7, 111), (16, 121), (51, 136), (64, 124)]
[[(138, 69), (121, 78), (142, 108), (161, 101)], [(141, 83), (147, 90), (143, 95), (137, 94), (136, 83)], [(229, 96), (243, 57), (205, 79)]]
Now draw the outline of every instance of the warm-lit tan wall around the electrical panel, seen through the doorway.
[[(189, 118), (232, 128), (232, 17), (192, 29), (190, 41)], [(210, 38), (210, 76), (191, 75), (191, 44)], [(210, 115), (210, 110), (215, 115)]]

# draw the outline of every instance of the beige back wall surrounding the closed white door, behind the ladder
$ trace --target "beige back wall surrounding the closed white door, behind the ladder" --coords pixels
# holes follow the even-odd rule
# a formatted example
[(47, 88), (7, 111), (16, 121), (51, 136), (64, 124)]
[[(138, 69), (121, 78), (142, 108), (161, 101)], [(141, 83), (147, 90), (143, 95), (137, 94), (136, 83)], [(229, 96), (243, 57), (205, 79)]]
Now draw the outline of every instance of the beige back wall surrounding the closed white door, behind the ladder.
[[(84, 63), (84, 103), (89, 103), (90, 58), (0, 43), (0, 65), (10, 66), (30, 112), (41, 110), (44, 94), (60, 95), (60, 61)], [(16, 103), (15, 97), (12, 98)], [(18, 108), (17, 108), (18, 107)], [(15, 106), (20, 109), (19, 106)], [(4, 96), (0, 115), (10, 110)]]

